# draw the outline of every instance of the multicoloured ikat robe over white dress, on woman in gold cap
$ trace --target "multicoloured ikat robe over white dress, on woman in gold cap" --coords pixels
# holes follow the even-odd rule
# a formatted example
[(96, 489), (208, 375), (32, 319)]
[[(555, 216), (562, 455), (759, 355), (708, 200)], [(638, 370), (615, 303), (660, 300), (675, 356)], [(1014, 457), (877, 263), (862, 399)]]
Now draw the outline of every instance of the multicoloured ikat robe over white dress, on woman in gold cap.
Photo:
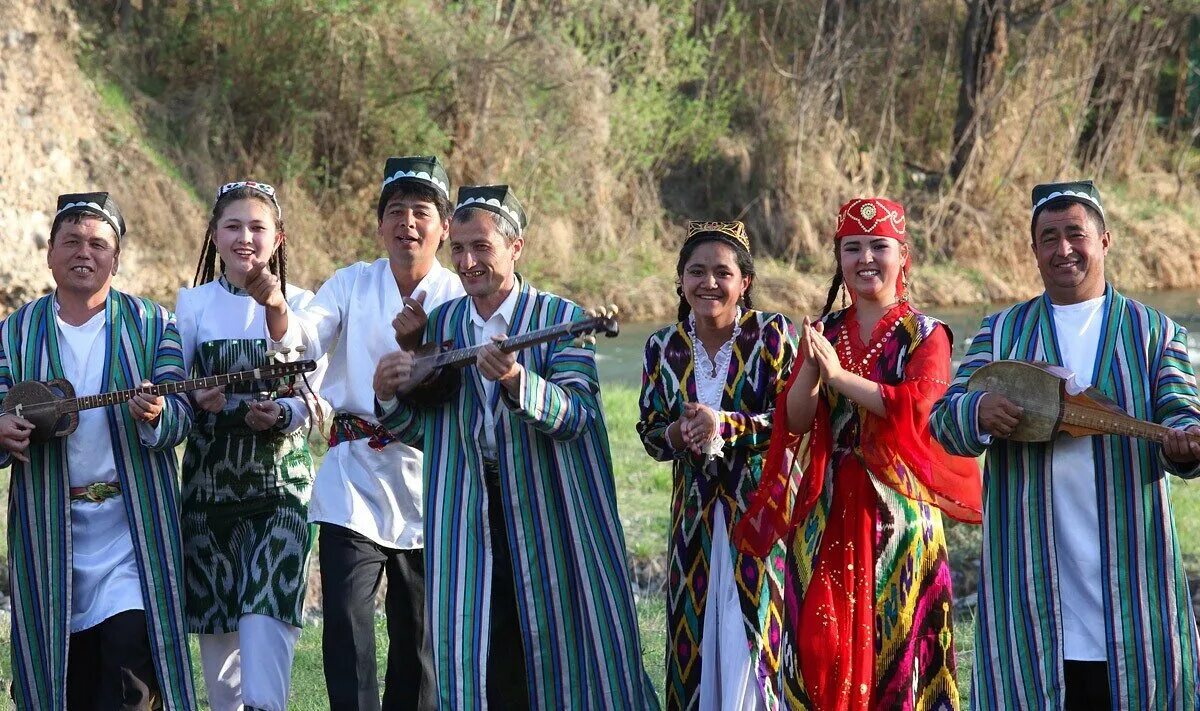
[[(721, 395), (719, 435), (725, 440), (715, 470), (688, 450), (676, 452), (667, 426), (696, 402), (692, 339), (685, 323), (653, 334), (646, 343), (641, 420), (637, 431), (650, 456), (673, 462), (667, 581), (668, 709), (695, 709), (704, 670), (707, 584), (712, 580), (716, 508), (727, 525), (745, 510), (762, 474), (770, 441), (772, 411), (796, 359), (796, 329), (779, 313), (745, 311), (733, 342)], [(715, 472), (715, 473), (714, 473)], [(731, 546), (732, 548), (732, 546)], [(767, 709), (779, 707), (779, 651), (784, 611), (784, 557), (780, 540), (763, 556), (731, 550), (750, 659)]]

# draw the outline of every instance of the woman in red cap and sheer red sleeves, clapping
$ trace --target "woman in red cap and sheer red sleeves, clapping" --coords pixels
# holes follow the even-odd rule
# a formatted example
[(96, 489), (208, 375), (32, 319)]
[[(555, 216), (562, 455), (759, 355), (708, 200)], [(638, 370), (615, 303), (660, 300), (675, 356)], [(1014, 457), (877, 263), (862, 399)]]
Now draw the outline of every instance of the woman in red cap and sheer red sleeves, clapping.
[[(941, 513), (978, 522), (980, 479), (974, 461), (929, 435), (950, 334), (906, 299), (902, 207), (842, 205), (835, 253), (822, 319), (805, 319), (763, 483), (734, 538), (751, 552), (788, 539), (781, 685), (791, 709), (958, 707)], [(840, 288), (852, 305), (830, 313)]]

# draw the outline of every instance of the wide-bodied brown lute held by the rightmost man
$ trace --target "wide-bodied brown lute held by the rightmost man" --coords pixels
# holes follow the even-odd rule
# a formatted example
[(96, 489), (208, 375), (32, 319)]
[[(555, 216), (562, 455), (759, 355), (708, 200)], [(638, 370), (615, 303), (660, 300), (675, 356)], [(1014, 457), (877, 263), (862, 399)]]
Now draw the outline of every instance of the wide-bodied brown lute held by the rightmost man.
[[(980, 366), (967, 390), (998, 393), (1024, 410), (1013, 434), (1015, 442), (1049, 442), (1058, 432), (1072, 437), (1123, 435), (1163, 442), (1170, 428), (1129, 416), (1096, 388), (1072, 393), (1069, 374), (1049, 363), (996, 360)], [(1200, 437), (1189, 435), (1194, 441)]]

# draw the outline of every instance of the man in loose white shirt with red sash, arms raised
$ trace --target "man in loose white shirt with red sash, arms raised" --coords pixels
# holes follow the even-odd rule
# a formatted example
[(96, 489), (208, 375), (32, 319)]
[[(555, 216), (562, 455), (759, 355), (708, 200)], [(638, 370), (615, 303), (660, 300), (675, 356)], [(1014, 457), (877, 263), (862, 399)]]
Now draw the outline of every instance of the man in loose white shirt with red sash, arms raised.
[(424, 306), (463, 294), (437, 261), (450, 228), (450, 180), (433, 156), (391, 157), (377, 205), (386, 257), (340, 269), (289, 317), (278, 280), (258, 268), (246, 289), (266, 305), (272, 339), (329, 356), (320, 395), (336, 413), (330, 449), (308, 504), (320, 526), (325, 623), (322, 651), (330, 707), (379, 709), (374, 601), (388, 579), (384, 709), (432, 709), (433, 668), (425, 638), (421, 453), (374, 422), (370, 374), (396, 348), (397, 328), (419, 333)]

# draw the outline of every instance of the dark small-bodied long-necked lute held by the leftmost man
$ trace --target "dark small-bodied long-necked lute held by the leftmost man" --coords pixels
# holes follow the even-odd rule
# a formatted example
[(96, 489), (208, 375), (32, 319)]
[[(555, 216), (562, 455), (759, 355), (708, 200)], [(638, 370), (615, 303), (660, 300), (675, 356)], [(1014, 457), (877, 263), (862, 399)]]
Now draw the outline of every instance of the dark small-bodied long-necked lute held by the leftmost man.
[(46, 442), (52, 437), (65, 437), (76, 431), (76, 428), (79, 426), (80, 410), (120, 405), (121, 402), (127, 402), (130, 398), (138, 393), (173, 395), (200, 388), (232, 386), (246, 381), (269, 381), (295, 376), (302, 372), (311, 372), (316, 369), (317, 363), (314, 360), (269, 363), (253, 370), (144, 386), (127, 390), (110, 390), (83, 398), (76, 398), (74, 387), (70, 381), (62, 378), (53, 381), (23, 381), (16, 383), (8, 390), (8, 394), (5, 395), (4, 401), (0, 402), (0, 413), (16, 414), (29, 420), (34, 425), (34, 431), (30, 432), (29, 441), (38, 443)]

